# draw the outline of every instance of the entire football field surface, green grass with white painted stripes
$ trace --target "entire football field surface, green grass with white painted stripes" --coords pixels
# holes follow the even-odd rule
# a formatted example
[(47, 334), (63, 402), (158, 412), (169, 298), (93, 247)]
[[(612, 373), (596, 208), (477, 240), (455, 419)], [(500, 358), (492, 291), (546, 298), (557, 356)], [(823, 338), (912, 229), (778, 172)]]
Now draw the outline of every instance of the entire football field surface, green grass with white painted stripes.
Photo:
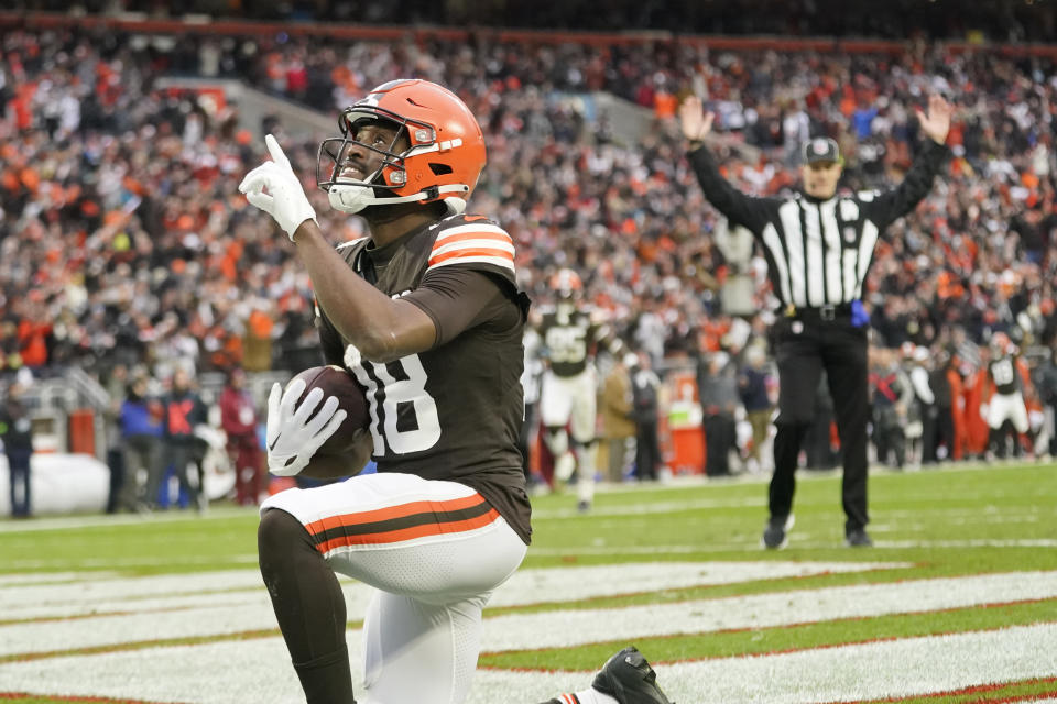
[[(582, 690), (634, 644), (679, 704), (1057, 702), (1057, 466), (875, 471), (872, 549), (842, 544), (839, 474), (799, 477), (776, 552), (761, 477), (622, 485), (588, 515), (535, 497), (468, 701)], [(303, 701), (255, 529), (225, 507), (0, 521), (0, 700)], [(342, 585), (358, 674), (370, 590)]]

